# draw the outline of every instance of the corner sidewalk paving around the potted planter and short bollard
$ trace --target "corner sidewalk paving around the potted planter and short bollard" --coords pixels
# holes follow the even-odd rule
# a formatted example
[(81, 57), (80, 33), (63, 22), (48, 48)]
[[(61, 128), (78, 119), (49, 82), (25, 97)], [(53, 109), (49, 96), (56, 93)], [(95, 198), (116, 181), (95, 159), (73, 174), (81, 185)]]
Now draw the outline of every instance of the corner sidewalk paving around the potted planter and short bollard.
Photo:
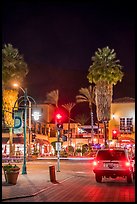
[[(66, 179), (71, 178), (72, 175), (68, 172), (57, 172), (55, 170), (55, 179), (57, 183), (63, 182)], [(56, 182), (50, 181), (49, 170), (38, 170), (30, 169), (27, 174), (22, 174), (20, 171), (17, 184), (7, 184), (2, 171), (2, 200), (8, 200), (17, 197), (28, 197), (34, 196), (46, 188), (50, 188), (57, 184)]]

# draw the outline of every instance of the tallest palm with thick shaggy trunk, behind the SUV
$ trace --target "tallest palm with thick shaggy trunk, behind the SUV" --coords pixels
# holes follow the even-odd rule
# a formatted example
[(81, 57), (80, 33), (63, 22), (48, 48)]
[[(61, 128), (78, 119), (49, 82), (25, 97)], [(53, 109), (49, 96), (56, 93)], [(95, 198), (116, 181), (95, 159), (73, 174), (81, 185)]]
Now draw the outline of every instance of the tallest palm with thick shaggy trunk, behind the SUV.
[[(113, 85), (122, 81), (124, 76), (119, 60), (116, 60), (114, 49), (98, 48), (92, 58), (87, 78), (90, 83), (95, 83), (95, 101), (98, 121), (110, 120)], [(106, 132), (106, 131), (105, 131)]]

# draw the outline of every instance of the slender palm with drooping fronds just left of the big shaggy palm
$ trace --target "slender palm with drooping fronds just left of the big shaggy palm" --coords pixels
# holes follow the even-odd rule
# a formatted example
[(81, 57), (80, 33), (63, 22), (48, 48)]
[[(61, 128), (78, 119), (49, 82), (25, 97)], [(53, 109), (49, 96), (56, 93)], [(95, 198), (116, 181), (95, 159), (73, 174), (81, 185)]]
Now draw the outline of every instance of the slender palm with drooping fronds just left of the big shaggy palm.
[(88, 88), (81, 88), (79, 90), (80, 95), (76, 96), (76, 103), (87, 102), (90, 108), (90, 117), (91, 117), (91, 140), (93, 143), (94, 129), (93, 129), (93, 104), (95, 104), (94, 99), (94, 87), (90, 85)]

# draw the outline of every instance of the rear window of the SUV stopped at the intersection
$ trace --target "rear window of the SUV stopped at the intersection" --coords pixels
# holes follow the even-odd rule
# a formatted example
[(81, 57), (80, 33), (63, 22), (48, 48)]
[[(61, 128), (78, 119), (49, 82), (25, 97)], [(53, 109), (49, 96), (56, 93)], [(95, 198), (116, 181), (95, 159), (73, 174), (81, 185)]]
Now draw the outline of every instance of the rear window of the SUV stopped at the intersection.
[(120, 150), (105, 150), (99, 151), (97, 154), (98, 160), (125, 160), (126, 155), (124, 151)]

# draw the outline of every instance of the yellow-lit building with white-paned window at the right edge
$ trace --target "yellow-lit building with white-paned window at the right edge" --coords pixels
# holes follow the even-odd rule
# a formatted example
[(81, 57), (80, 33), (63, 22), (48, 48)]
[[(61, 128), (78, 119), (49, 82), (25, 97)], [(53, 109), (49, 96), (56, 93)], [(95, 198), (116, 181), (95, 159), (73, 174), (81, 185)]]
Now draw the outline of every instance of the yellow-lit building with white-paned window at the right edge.
[(111, 104), (109, 140), (135, 143), (135, 99), (119, 98)]

